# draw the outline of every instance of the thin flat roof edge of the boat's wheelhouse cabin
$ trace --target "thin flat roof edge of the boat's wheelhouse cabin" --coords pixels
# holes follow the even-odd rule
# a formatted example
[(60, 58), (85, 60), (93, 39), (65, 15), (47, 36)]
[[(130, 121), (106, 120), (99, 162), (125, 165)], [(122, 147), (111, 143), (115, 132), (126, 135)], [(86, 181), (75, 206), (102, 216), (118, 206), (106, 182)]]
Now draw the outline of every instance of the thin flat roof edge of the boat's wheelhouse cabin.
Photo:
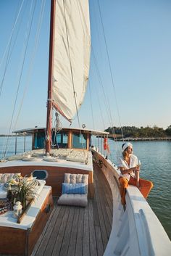
[[(54, 128), (52, 128), (54, 129)], [(17, 131), (13, 131), (13, 133), (26, 133), (26, 134), (30, 134), (30, 133), (35, 133), (36, 131), (41, 131), (41, 130), (46, 130), (45, 127), (35, 127), (35, 128), (26, 128), (26, 129), (21, 129), (21, 130), (17, 130)], [(84, 133), (91, 133), (92, 135), (108, 135), (109, 133), (107, 131), (96, 131), (96, 130), (92, 130), (92, 129), (79, 129), (79, 128), (62, 128), (62, 131), (82, 131)]]

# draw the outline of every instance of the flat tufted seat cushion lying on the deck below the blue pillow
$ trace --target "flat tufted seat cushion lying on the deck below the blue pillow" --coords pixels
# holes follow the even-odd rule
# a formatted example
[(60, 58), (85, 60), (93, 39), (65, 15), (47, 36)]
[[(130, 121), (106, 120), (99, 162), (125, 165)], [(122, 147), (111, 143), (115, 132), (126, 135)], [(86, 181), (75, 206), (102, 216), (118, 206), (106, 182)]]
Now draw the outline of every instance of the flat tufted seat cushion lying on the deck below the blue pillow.
[(87, 194), (62, 194), (58, 200), (58, 205), (76, 205), (86, 207), (87, 204)]

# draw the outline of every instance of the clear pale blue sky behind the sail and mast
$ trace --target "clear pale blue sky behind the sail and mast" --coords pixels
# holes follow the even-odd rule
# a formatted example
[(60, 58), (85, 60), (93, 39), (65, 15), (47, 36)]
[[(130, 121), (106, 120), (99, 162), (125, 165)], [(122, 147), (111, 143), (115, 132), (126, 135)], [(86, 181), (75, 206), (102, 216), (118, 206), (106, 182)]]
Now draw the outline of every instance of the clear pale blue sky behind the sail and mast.
[[(43, 21), (33, 55), (41, 2)], [(0, 134), (46, 125), (50, 0), (32, 3), (35, 17), (25, 52), (31, 3), (0, 0)], [(21, 6), (27, 10), (20, 12), (15, 32)], [(80, 125), (96, 130), (125, 125), (167, 128), (171, 125), (171, 1), (90, 0), (89, 6), (91, 67)], [(60, 119), (63, 127), (70, 126)], [(78, 127), (77, 117), (72, 127)]]

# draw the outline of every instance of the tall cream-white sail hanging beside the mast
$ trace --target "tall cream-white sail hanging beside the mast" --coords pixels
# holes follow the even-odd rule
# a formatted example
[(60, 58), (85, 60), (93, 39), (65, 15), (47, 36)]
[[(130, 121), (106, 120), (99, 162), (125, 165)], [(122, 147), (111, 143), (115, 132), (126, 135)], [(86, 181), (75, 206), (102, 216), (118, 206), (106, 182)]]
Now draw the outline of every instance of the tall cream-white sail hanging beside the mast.
[(68, 120), (86, 93), (90, 48), (88, 0), (56, 0), (52, 100)]

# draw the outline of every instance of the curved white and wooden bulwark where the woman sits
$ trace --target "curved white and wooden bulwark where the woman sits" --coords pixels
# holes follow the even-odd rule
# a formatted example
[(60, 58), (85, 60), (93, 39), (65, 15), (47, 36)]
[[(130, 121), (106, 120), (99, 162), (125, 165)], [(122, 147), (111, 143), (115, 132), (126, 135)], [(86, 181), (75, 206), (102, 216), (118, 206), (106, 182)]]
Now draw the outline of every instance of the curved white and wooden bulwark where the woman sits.
[(126, 207), (121, 205), (118, 183), (119, 170), (110, 160), (94, 151), (96, 162), (109, 182), (113, 196), (113, 223), (104, 256), (166, 256), (171, 243), (162, 224), (135, 186), (128, 186)]

